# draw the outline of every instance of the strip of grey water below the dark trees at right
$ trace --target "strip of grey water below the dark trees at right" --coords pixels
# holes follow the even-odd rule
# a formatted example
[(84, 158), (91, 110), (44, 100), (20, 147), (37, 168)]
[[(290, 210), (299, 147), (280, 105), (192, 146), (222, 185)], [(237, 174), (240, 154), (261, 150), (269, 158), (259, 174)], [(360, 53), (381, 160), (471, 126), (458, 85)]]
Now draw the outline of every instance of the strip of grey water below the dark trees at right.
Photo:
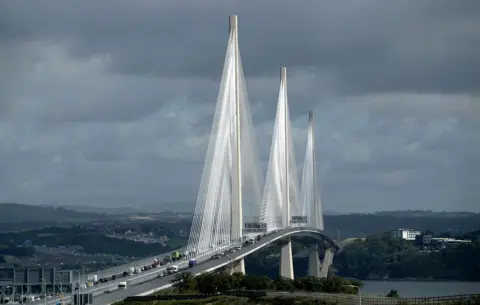
[(401, 297), (480, 294), (480, 282), (363, 281), (362, 294), (385, 296), (391, 289)]

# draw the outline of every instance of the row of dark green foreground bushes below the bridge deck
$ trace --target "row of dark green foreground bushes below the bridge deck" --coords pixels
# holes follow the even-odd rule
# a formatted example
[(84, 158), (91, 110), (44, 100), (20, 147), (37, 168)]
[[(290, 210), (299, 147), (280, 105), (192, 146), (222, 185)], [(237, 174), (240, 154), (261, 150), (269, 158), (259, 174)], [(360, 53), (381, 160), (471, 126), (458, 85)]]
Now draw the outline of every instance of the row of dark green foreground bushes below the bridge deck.
[(188, 272), (179, 273), (172, 281), (175, 292), (193, 293), (199, 292), (206, 295), (225, 293), (231, 290), (274, 290), (274, 291), (314, 291), (328, 293), (356, 294), (357, 287), (362, 283), (354, 280), (346, 280), (341, 277), (320, 279), (315, 277), (278, 278), (272, 280), (266, 276), (232, 275), (224, 272), (216, 274), (201, 274), (193, 276)]

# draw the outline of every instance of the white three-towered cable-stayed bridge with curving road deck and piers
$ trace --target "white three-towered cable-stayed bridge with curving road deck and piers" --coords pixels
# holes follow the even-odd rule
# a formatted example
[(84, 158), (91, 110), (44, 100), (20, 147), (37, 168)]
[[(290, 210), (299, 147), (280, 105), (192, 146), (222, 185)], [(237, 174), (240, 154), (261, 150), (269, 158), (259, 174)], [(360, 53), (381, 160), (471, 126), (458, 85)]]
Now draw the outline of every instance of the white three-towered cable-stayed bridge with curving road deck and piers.
[[(289, 114), (287, 70), (281, 68), (270, 159), (263, 181), (238, 46), (236, 16), (230, 16), (229, 25), (227, 53), (210, 141), (185, 248), (188, 255), (176, 264), (184, 269), (188, 260), (195, 258), (197, 265), (189, 269), (193, 274), (220, 268), (245, 273), (244, 258), (247, 255), (272, 243), (280, 243), (279, 275), (293, 279), (291, 238), (310, 236), (316, 242), (309, 251), (308, 274), (326, 277), (333, 255), (341, 247), (323, 231), (313, 113), (309, 113), (300, 189)], [(322, 263), (319, 261), (318, 244), (326, 249)], [(219, 253), (227, 254), (220, 259), (212, 259)], [(92, 288), (86, 292), (97, 291), (101, 295), (95, 304), (108, 304), (129, 295), (151, 293), (167, 288), (172, 280), (172, 276), (158, 279), (161, 271), (154, 270), (126, 279), (129, 287), (135, 285), (126, 290), (104, 294)], [(55, 300), (48, 303), (52, 302)]]

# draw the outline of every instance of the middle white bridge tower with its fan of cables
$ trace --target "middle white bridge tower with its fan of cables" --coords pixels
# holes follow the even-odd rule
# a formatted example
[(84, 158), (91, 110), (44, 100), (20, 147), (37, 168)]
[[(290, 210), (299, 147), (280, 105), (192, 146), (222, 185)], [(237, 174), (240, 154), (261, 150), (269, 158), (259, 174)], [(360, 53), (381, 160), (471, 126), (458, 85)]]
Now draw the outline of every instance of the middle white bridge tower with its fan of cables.
[(287, 70), (283, 67), (260, 222), (267, 224), (267, 231), (289, 227), (291, 216), (298, 215), (299, 210), (297, 166), (288, 111)]

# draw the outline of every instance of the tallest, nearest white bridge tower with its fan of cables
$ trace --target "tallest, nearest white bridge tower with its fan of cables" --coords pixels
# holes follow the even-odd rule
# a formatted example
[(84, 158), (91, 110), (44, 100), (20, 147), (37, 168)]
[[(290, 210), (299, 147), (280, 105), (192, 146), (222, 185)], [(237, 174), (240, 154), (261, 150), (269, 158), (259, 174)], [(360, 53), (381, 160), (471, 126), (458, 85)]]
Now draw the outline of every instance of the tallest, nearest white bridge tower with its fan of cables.
[(230, 16), (229, 25), (227, 54), (187, 246), (195, 256), (210, 255), (240, 242), (244, 218), (258, 217), (261, 202), (260, 162), (238, 50), (237, 16)]

